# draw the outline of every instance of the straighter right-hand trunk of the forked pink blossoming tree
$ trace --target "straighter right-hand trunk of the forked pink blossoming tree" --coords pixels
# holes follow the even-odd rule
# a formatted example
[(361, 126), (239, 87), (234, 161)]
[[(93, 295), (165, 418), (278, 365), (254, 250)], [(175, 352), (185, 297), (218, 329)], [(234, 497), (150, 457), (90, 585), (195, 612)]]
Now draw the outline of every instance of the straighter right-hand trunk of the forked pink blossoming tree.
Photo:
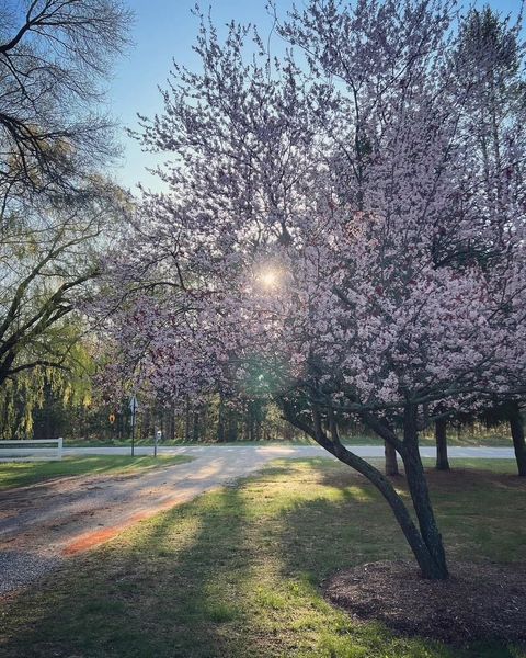
[(424, 467), (420, 458), (416, 408), (414, 406), (408, 406), (404, 410), (402, 460), (411, 500), (419, 520), (420, 534), (432, 558), (431, 569), (424, 572), (424, 578), (445, 580), (448, 577), (446, 554), (433, 512)]

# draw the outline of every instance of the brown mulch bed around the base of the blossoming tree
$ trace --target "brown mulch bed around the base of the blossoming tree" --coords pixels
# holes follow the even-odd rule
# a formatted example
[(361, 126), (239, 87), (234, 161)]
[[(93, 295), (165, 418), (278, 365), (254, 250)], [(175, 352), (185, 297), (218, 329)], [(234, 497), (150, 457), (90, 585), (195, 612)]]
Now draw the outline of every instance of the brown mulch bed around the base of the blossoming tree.
[(450, 563), (449, 571), (446, 581), (424, 580), (414, 563), (370, 563), (336, 574), (324, 591), (353, 616), (404, 635), (526, 640), (526, 564)]

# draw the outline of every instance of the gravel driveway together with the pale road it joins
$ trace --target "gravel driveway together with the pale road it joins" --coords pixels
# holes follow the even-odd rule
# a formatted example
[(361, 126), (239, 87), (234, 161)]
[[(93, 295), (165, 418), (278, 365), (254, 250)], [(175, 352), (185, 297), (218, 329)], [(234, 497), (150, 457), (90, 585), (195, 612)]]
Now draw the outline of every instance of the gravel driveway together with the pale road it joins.
[[(381, 457), (381, 446), (356, 446), (361, 456)], [(65, 454), (127, 454), (129, 449), (67, 449)], [(137, 454), (151, 449), (138, 447)], [(162, 454), (193, 457), (187, 464), (142, 474), (48, 480), (0, 492), (0, 594), (18, 589), (160, 510), (258, 470), (271, 460), (329, 456), (317, 446), (179, 446)], [(433, 456), (434, 449), (422, 449)], [(451, 457), (513, 457), (511, 449), (451, 447)]]

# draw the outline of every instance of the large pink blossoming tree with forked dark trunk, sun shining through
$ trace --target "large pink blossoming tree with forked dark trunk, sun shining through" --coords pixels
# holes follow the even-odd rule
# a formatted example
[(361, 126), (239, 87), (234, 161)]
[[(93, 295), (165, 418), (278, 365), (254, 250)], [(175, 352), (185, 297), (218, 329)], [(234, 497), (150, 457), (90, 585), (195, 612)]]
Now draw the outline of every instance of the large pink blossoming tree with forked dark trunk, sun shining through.
[[(110, 329), (137, 386), (273, 398), (380, 490), (422, 574), (444, 579), (419, 431), (444, 406), (524, 392), (519, 112), (488, 172), (482, 82), (446, 0), (311, 0), (277, 24), (290, 49), (272, 58), (251, 29), (221, 41), (202, 20), (202, 71), (176, 68), (145, 120), (146, 147), (173, 156), (168, 191), (145, 194), (112, 259)], [(400, 455), (415, 521), (342, 443), (353, 416)]]

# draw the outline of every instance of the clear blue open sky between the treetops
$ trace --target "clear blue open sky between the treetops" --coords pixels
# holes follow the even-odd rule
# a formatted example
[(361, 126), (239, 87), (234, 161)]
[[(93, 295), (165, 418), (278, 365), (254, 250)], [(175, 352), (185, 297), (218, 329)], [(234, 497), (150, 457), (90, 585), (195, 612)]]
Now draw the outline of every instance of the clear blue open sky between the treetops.
[[(479, 4), (480, 2), (478, 2)], [(493, 8), (504, 12), (516, 12), (521, 0), (490, 0)], [(108, 111), (123, 126), (137, 128), (136, 114), (152, 116), (161, 111), (158, 86), (164, 87), (171, 63), (188, 67), (197, 65), (192, 50), (198, 20), (191, 12), (195, 0), (128, 0), (135, 12), (132, 38), (135, 42), (127, 56), (115, 69), (111, 80)], [(203, 0), (203, 8), (211, 7), (211, 15), (217, 25), (231, 19), (243, 23), (255, 23), (262, 35), (272, 29), (272, 19), (265, 10), (265, 0)], [(293, 0), (277, 0), (279, 12), (285, 12)], [(297, 5), (302, 0), (297, 0)], [(126, 188), (134, 189), (138, 181), (157, 186), (145, 167), (152, 166), (155, 159), (141, 152), (140, 147), (122, 132), (124, 145), (123, 163), (115, 170), (115, 177)]]

